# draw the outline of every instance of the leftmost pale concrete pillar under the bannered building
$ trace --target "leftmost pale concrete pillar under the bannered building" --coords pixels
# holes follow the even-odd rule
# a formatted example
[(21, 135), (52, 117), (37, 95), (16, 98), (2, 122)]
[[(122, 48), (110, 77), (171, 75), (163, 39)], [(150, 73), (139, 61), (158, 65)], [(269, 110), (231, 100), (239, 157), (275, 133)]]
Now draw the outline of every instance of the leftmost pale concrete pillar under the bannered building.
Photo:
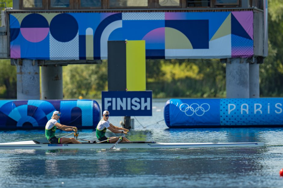
[(17, 64), (17, 99), (40, 99), (39, 66), (36, 60), (23, 59)]

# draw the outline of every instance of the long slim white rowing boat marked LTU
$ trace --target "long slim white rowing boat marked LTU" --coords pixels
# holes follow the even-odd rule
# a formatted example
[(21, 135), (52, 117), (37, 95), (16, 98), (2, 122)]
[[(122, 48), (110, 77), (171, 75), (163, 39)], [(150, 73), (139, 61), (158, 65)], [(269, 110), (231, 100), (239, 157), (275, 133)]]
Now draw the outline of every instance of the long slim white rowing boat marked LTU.
[[(109, 149), (110, 143), (83, 144), (49, 144), (35, 140), (21, 142), (0, 143), (0, 149)], [(260, 147), (263, 142), (241, 142), (241, 143), (160, 143), (160, 142), (120, 142), (115, 148), (215, 148), (215, 147)]]

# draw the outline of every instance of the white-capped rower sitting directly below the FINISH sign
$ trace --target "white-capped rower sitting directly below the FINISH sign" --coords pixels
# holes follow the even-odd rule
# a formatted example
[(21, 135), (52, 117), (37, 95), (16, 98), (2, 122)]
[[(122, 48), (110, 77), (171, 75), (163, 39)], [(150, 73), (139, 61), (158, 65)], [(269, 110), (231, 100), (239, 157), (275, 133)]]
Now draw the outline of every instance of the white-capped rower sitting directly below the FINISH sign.
[[(107, 138), (105, 136), (106, 129), (110, 130), (113, 133), (127, 134), (129, 132), (128, 129), (124, 129), (122, 127), (116, 127), (113, 124), (111, 124), (108, 121), (109, 112), (107, 110), (104, 110), (102, 115), (103, 115), (103, 118), (99, 121), (96, 127), (96, 137), (100, 142), (107, 140), (107, 142), (102, 142), (102, 143), (115, 143), (119, 139), (119, 137)], [(122, 138), (123, 138), (123, 141), (130, 142), (128, 139), (126, 139), (126, 137), (122, 137)]]

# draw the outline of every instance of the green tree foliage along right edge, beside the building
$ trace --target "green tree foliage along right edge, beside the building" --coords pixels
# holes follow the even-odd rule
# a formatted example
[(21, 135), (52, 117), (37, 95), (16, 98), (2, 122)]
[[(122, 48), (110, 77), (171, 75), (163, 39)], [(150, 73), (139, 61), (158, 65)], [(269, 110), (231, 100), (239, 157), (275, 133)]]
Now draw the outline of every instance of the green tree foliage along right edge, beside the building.
[(283, 96), (283, 4), (282, 0), (269, 0), (269, 49), (260, 65), (260, 95)]

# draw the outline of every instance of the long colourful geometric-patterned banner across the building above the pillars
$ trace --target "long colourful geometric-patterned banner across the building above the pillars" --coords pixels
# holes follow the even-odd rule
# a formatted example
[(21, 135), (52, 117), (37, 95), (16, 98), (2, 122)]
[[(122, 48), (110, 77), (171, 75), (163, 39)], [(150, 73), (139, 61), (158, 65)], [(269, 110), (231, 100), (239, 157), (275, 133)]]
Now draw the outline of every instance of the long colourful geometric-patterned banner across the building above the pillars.
[(107, 59), (108, 40), (145, 40), (146, 58), (253, 56), (253, 11), (11, 13), (10, 56)]

